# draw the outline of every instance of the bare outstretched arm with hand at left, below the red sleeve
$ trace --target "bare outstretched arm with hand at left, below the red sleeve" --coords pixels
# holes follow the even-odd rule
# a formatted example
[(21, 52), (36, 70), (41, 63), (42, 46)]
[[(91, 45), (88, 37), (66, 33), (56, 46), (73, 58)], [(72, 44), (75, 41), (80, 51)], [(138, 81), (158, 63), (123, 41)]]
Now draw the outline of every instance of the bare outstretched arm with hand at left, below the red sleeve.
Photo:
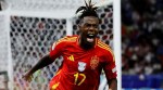
[(30, 79), (30, 76), (38, 69), (45, 67), (45, 66), (48, 66), (49, 64), (51, 64), (53, 61), (50, 59), (50, 55), (47, 54), (45, 55), (43, 57), (41, 57), (38, 63), (32, 67), (24, 76), (23, 78), (25, 80), (29, 80)]

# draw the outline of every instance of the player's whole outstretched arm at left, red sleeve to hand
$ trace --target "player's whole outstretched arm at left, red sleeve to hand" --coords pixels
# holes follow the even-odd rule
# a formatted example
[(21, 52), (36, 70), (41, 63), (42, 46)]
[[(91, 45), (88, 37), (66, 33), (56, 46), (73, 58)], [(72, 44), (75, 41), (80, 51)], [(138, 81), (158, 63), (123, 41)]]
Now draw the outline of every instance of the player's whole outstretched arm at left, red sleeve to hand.
[(49, 64), (51, 64), (57, 57), (59, 57), (62, 53), (62, 49), (64, 49), (64, 38), (60, 39), (59, 41), (54, 42), (51, 47), (51, 50), (49, 52), (49, 54), (45, 55), (43, 57), (41, 57), (38, 63), (32, 67), (24, 76), (23, 78), (25, 80), (29, 80), (30, 76), (38, 69), (48, 66)]

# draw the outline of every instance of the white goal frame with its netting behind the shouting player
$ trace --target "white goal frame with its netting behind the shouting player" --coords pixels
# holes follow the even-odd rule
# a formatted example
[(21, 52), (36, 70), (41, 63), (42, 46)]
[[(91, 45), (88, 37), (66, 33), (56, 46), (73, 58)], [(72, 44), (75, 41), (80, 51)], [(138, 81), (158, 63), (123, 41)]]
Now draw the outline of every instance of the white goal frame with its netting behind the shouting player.
[[(98, 14), (102, 18), (102, 30), (99, 37), (108, 44), (113, 42), (117, 86), (121, 90), (121, 26), (116, 10), (120, 7), (115, 7), (115, 0), (92, 1), (100, 7)], [(0, 20), (4, 21), (0, 23), (3, 27), (0, 28), (0, 43), (3, 43), (0, 46), (0, 54), (3, 54), (0, 62), (7, 60), (7, 65), (0, 66), (0, 69), (8, 70), (10, 89), (30, 90), (33, 87), (36, 90), (47, 90), (47, 83), (58, 70), (62, 63), (59, 60), (62, 59), (35, 73), (32, 82), (24, 81), (22, 75), (49, 51), (55, 40), (78, 34), (75, 10), (84, 5), (84, 0), (7, 0), (7, 3), (9, 8), (0, 12)], [(104, 89), (105, 83), (100, 87)]]

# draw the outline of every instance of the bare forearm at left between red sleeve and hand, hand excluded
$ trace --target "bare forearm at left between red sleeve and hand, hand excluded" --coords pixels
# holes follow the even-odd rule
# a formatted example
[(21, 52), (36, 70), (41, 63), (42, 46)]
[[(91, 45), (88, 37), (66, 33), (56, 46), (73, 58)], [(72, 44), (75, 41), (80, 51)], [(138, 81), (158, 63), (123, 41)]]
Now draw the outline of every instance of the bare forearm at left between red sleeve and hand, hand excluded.
[(38, 63), (30, 68), (29, 74), (34, 74), (36, 70), (48, 66), (49, 64), (51, 64), (53, 61), (50, 59), (49, 54), (45, 55), (43, 57), (41, 57)]

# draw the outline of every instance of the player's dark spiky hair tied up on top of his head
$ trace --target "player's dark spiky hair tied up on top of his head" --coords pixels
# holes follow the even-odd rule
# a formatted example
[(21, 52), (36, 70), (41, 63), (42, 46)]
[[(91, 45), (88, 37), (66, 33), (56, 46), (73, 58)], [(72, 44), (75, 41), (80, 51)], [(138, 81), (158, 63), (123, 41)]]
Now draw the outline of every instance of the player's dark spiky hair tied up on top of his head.
[(97, 14), (98, 7), (95, 7), (95, 4), (91, 3), (91, 0), (89, 0), (88, 3), (85, 1), (85, 4), (86, 7), (79, 7), (76, 11), (76, 14), (78, 12), (82, 12), (82, 14), (79, 15), (79, 18), (84, 18), (85, 16), (95, 16), (99, 18)]

